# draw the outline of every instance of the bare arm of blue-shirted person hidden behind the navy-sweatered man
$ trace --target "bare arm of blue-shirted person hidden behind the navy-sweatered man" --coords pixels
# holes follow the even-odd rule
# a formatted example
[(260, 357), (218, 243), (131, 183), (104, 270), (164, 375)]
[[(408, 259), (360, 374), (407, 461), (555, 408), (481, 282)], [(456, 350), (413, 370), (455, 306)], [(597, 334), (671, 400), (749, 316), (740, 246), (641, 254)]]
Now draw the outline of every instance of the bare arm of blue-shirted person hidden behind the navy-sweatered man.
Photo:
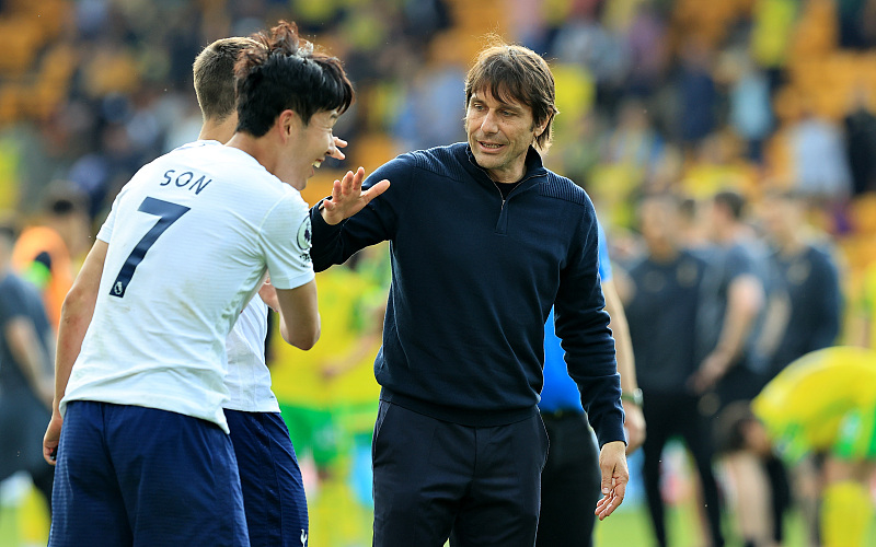
[(613, 278), (602, 281), (602, 294), (606, 296), (606, 311), (611, 316), (609, 328), (614, 336), (614, 353), (623, 392), (624, 424), (629, 434), (626, 453), (631, 454), (645, 442), (645, 416), (642, 414), (641, 406), (642, 392), (636, 382), (633, 340), (630, 338), (630, 325), (626, 323), (626, 314), (623, 311)]

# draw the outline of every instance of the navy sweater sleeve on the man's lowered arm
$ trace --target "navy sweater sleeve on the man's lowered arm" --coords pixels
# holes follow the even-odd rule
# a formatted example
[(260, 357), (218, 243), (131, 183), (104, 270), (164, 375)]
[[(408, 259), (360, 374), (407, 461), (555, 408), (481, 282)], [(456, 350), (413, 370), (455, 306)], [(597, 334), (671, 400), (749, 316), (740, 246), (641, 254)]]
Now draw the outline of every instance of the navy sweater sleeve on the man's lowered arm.
[(625, 441), (621, 376), (614, 359), (614, 339), (598, 271), (598, 228), (589, 200), (568, 261), (561, 271), (555, 302), (556, 333), (563, 340), (569, 376), (577, 383), (581, 404), (599, 445)]

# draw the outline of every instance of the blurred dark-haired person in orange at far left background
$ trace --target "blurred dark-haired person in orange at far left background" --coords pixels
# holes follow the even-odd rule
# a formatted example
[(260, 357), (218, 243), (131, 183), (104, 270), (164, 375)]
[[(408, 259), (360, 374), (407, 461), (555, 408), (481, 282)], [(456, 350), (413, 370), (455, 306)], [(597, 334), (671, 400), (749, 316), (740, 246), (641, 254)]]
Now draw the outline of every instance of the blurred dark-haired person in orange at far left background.
[(12, 252), (12, 266), (43, 294), (53, 328), (73, 284), (74, 260), (88, 248), (88, 201), (72, 185), (54, 183), (45, 196), (41, 223), (26, 228)]

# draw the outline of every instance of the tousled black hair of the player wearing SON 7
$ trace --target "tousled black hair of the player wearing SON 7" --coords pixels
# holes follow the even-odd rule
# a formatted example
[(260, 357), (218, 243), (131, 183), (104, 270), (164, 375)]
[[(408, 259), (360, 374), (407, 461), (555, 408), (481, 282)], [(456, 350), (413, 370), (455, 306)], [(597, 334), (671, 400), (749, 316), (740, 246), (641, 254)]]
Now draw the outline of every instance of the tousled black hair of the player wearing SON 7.
[(243, 50), (234, 68), (238, 131), (262, 137), (281, 112), (291, 109), (307, 125), (318, 112), (343, 114), (355, 100), (341, 61), (314, 51), (298, 37), (295, 23), (280, 21), (254, 36), (258, 46)]

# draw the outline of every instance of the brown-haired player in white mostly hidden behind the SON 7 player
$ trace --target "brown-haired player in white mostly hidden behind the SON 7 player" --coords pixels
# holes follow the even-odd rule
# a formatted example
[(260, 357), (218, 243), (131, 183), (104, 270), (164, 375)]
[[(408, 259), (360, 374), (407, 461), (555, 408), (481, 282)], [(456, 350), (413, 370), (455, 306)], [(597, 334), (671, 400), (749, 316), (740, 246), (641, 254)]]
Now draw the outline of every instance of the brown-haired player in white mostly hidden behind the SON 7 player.
[[(233, 137), (238, 127), (234, 63), (240, 51), (258, 46), (252, 38), (222, 38), (204, 48), (195, 59), (195, 92), (204, 115), (199, 140), (224, 143)], [(299, 47), (308, 47), (308, 43)], [(330, 155), (343, 160), (337, 147), (346, 142), (337, 137), (334, 140)], [(266, 301), (277, 307), (273, 292), (266, 286), (253, 296), (226, 342), (229, 400), (222, 406), (238, 459), (253, 547), (306, 545), (309, 535), (301, 469), (265, 364)]]

